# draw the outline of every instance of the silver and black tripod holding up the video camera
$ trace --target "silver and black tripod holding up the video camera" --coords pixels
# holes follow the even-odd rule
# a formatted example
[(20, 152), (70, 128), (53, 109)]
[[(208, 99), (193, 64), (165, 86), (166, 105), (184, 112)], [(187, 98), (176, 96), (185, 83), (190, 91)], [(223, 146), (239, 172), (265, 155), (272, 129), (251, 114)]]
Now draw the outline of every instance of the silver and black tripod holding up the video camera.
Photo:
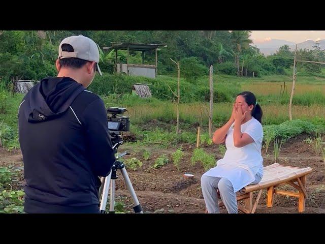
[[(119, 142), (117, 142), (113, 146), (113, 149), (114, 149), (115, 152), (117, 151), (117, 147), (119, 145), (121, 145), (122, 143), (123, 143), (123, 141), (119, 141)], [(127, 153), (124, 152), (124, 153), (120, 154), (118, 157), (116, 157), (116, 159), (119, 159), (119, 158), (125, 156), (126, 154)], [(136, 195), (136, 193), (135, 193), (135, 191), (133, 189), (131, 180), (128, 177), (128, 174), (127, 174), (126, 169), (125, 169), (125, 165), (122, 162), (117, 161), (117, 160), (114, 162), (110, 174), (108, 176), (106, 176), (106, 177), (102, 177), (101, 178), (102, 185), (101, 185), (101, 188), (99, 190), (99, 196), (103, 192), (102, 201), (101, 201), (101, 207), (100, 207), (101, 214), (105, 214), (106, 213), (106, 210), (105, 209), (106, 209), (106, 203), (107, 203), (109, 189), (111, 190), (111, 192), (110, 192), (110, 210), (109, 210), (109, 213), (110, 214), (114, 214), (114, 212), (115, 212), (114, 211), (114, 203), (115, 203), (115, 179), (117, 179), (116, 172), (117, 172), (118, 169), (121, 171), (122, 176), (124, 178), (125, 185), (127, 187), (127, 190), (129, 191), (129, 193), (131, 194), (131, 197), (133, 199), (133, 202), (134, 202), (133, 209), (134, 209), (134, 211), (136, 213), (143, 214), (142, 207), (141, 207), (141, 205), (139, 203), (139, 200), (137, 198), (137, 195)]]

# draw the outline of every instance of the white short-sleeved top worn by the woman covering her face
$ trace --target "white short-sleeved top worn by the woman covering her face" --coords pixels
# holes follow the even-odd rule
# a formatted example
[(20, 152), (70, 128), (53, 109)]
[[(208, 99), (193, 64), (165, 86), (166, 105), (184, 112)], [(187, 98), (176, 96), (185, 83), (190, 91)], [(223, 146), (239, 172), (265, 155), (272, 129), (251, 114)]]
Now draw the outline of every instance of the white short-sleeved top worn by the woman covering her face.
[(225, 138), (227, 148), (223, 159), (217, 161), (217, 166), (204, 175), (228, 178), (234, 192), (246, 187), (255, 180), (255, 174), (263, 175), (263, 157), (261, 153), (263, 128), (254, 117), (241, 125), (241, 132), (248, 134), (254, 142), (243, 147), (234, 146), (234, 123)]

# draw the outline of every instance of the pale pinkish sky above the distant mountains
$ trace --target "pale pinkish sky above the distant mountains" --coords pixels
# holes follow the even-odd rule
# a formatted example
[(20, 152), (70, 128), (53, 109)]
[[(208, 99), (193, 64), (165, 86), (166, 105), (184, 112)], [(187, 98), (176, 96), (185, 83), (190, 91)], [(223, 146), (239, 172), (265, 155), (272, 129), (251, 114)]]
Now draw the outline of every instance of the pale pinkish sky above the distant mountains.
[(252, 31), (251, 39), (255, 44), (270, 41), (271, 39), (300, 43), (306, 40), (318, 41), (325, 39), (325, 31)]

